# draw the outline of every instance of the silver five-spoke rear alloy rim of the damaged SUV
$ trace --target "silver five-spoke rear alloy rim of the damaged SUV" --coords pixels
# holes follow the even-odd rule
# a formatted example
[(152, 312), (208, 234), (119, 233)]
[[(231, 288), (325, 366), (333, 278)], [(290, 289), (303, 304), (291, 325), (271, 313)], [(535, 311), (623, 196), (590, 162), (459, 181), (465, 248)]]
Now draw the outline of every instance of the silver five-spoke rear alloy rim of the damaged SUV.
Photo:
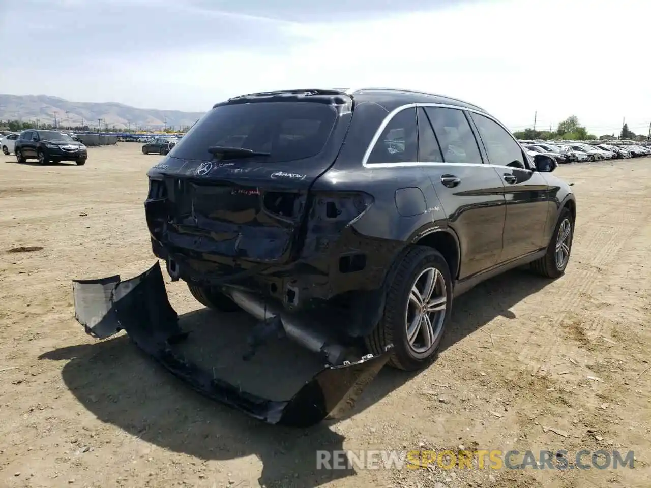
[(424, 269), (414, 280), (405, 311), (407, 341), (415, 355), (426, 355), (443, 331), (447, 290), (436, 267)]

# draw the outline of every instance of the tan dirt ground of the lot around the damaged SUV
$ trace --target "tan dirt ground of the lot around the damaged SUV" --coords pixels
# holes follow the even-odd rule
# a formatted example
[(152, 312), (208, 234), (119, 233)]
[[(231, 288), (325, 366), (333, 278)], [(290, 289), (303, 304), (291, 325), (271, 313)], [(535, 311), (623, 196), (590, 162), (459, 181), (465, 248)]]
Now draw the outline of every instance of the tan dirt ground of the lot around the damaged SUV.
[[(72, 278), (153, 264), (157, 160), (135, 143), (90, 148), (84, 167), (0, 156), (0, 487), (649, 486), (651, 158), (559, 167), (578, 202), (564, 277), (514, 271), (469, 291), (436, 364), (385, 368), (350, 416), (308, 430), (205, 400), (124, 334), (98, 342), (75, 321)], [(245, 321), (167, 287), (184, 327)], [(419, 448), (633, 450), (635, 467), (316, 469), (316, 449)]]

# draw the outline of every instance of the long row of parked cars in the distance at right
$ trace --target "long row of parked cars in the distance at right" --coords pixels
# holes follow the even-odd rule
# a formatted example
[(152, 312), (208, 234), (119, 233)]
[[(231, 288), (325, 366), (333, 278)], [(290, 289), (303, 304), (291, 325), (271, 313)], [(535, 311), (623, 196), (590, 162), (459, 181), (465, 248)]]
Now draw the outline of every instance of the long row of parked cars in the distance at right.
[(558, 163), (578, 163), (581, 161), (603, 161), (604, 159), (628, 159), (629, 157), (650, 156), (651, 146), (638, 144), (617, 145), (597, 142), (572, 141), (519, 141), (529, 156), (545, 154)]

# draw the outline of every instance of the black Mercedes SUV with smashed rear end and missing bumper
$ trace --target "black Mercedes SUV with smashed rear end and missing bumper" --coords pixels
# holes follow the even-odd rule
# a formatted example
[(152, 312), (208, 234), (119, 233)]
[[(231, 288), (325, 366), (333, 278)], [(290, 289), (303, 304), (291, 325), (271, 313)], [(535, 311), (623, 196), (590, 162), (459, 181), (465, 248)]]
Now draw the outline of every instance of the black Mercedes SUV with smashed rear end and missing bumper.
[[(434, 358), (453, 297), (521, 265), (564, 273), (575, 198), (486, 111), (415, 92), (217, 103), (149, 172), (154, 254), (205, 306), (340, 363)], [(264, 335), (264, 334), (263, 334)]]

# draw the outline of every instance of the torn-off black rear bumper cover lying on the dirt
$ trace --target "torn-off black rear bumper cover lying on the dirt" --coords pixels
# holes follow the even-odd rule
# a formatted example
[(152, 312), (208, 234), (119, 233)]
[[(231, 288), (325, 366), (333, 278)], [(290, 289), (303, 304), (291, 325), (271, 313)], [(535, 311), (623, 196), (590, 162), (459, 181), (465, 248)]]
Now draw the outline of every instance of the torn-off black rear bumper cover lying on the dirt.
[(73, 280), (75, 318), (88, 334), (104, 339), (120, 330), (200, 394), (269, 424), (309, 427), (338, 418), (352, 409), (363, 388), (386, 364), (389, 355), (367, 355), (342, 366), (325, 366), (292, 398), (275, 401), (240, 390), (214, 377), (174, 351), (187, 337), (167, 299), (158, 262), (145, 273), (120, 280)]

